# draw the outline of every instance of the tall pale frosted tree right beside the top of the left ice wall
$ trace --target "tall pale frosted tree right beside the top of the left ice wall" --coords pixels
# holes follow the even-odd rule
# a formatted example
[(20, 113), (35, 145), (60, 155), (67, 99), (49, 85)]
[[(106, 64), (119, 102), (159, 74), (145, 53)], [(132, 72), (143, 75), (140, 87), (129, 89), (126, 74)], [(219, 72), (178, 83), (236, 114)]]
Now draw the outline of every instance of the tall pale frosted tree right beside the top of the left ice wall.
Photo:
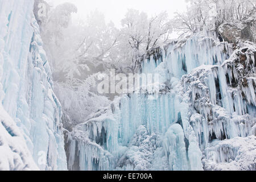
[[(35, 9), (37, 9), (39, 5), (42, 5), (41, 1), (36, 2)], [(66, 39), (64, 31), (71, 24), (72, 13), (77, 13), (77, 7), (72, 3), (63, 3), (50, 9), (47, 3), (46, 5), (48, 7), (47, 14), (43, 16), (43, 21), (40, 23), (40, 30), (44, 48), (47, 51), (49, 60), (51, 60), (50, 64), (53, 69), (53, 75), (57, 75), (60, 70), (60, 65), (65, 64), (63, 59), (61, 59), (63, 57), (59, 55), (63, 55), (65, 52), (64, 47), (68, 46), (68, 44), (64, 44)], [(34, 12), (36, 11), (35, 9)], [(69, 59), (69, 56), (67, 56), (66, 59)]]

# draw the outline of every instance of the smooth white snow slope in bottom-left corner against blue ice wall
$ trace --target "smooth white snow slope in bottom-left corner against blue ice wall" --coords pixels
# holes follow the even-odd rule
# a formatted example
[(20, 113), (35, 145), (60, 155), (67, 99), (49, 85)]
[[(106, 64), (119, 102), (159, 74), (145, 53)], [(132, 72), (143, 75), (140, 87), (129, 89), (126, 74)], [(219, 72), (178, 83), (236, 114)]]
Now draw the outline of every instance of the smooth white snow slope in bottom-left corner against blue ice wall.
[(14, 120), (0, 105), (0, 171), (39, 170)]

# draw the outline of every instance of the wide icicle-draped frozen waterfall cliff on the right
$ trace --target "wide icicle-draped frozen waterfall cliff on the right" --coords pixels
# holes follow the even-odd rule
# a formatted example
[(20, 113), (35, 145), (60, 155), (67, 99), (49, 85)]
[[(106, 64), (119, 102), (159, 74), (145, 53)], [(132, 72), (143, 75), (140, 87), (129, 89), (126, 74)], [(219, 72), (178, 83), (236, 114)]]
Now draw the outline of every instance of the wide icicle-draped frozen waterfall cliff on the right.
[(255, 54), (212, 33), (158, 49), (139, 65), (165, 92), (123, 96), (77, 126), (68, 168), (255, 170)]

